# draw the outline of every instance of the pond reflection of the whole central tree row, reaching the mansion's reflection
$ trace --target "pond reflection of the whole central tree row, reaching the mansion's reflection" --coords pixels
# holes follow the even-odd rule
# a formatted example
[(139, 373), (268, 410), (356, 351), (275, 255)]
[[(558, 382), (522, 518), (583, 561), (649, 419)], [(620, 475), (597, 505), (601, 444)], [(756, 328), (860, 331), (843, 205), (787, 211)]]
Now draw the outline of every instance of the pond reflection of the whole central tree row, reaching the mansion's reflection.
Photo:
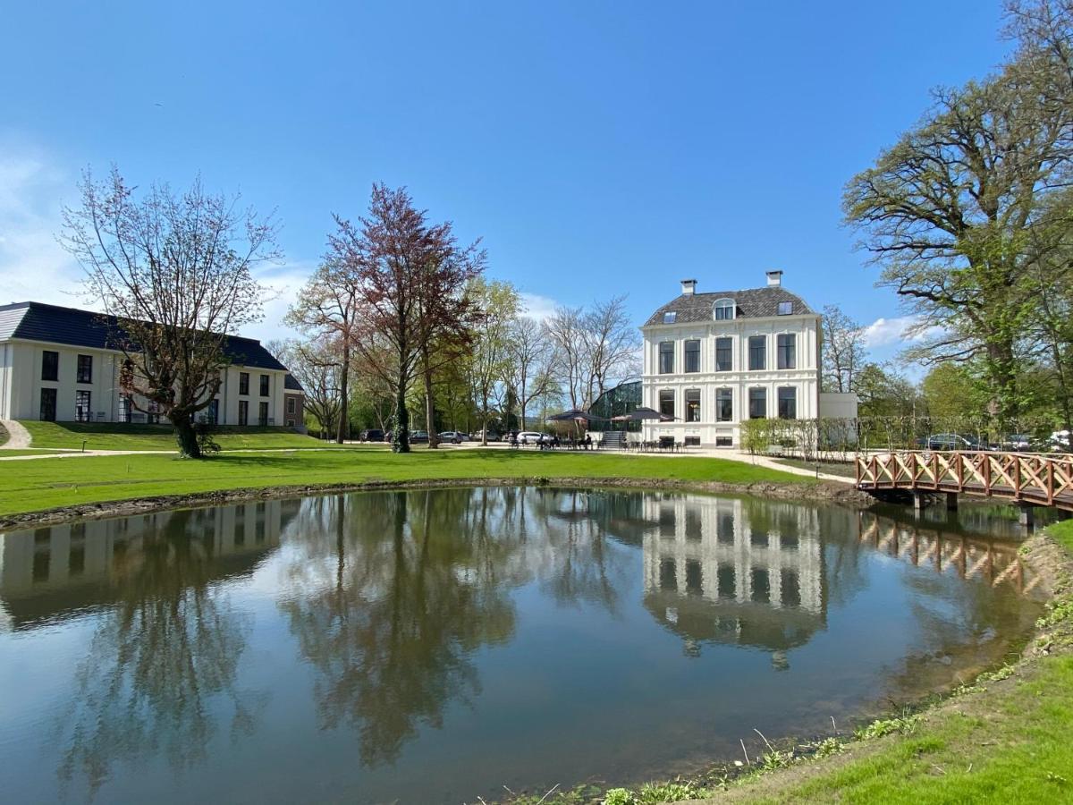
[(305, 501), (280, 606), (317, 670), (320, 726), (355, 729), (367, 764), (392, 761), (480, 692), (472, 656), (513, 635), (514, 588), (613, 608), (627, 557), (609, 556), (587, 506), (499, 487)]

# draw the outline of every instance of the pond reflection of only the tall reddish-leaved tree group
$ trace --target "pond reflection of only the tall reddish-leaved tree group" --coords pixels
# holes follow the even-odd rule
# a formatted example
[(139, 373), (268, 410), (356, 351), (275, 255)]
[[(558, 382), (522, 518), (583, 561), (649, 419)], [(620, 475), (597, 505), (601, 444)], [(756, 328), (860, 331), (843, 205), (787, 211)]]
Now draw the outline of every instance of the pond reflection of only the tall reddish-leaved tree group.
[(318, 672), (320, 724), (357, 729), (365, 763), (393, 760), (480, 689), (471, 652), (513, 633), (513, 545), (467, 492), (324, 498), (303, 518), (308, 553), (281, 606)]

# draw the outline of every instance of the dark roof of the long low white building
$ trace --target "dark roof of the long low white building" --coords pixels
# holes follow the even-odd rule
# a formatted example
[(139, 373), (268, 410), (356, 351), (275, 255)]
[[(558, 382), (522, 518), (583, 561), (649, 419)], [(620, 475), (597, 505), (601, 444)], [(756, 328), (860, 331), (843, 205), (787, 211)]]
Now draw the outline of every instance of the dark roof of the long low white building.
[[(115, 319), (90, 310), (45, 305), (41, 302), (0, 305), (0, 341), (26, 338), (71, 347), (115, 349), (117, 332)], [(261, 341), (252, 338), (227, 336), (223, 349), (232, 362), (239, 366), (286, 370), (283, 364), (261, 346)]]

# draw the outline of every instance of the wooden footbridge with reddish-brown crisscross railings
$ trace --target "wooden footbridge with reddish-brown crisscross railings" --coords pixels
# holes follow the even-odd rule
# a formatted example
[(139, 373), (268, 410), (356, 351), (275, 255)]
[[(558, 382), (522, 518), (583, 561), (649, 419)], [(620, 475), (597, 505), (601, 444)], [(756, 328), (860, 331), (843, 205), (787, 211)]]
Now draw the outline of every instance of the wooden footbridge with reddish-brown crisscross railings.
[[(857, 488), (982, 495), (1073, 511), (1073, 455), (895, 451), (856, 457)], [(1030, 521), (1029, 521), (1030, 522)]]

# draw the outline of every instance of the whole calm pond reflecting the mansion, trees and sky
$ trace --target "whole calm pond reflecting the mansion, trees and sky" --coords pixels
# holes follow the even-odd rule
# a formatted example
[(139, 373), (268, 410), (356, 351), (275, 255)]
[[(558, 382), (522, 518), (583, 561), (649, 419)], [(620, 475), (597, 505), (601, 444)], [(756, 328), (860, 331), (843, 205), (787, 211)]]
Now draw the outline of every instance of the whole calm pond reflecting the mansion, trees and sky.
[(550, 487), (0, 535), (0, 791), (459, 803), (665, 778), (1001, 662), (1041, 610), (1016, 536), (971, 507)]

